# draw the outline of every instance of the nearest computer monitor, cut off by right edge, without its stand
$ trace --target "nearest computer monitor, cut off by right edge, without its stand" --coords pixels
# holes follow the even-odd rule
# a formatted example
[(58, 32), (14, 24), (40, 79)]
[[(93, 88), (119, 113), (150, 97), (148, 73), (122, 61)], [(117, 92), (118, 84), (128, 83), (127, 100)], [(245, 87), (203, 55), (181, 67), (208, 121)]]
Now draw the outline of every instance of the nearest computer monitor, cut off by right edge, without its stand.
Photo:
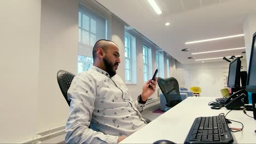
[(251, 57), (249, 61), (249, 69), (246, 83), (246, 91), (251, 93), (256, 93), (256, 32), (253, 34), (252, 48), (251, 48)]

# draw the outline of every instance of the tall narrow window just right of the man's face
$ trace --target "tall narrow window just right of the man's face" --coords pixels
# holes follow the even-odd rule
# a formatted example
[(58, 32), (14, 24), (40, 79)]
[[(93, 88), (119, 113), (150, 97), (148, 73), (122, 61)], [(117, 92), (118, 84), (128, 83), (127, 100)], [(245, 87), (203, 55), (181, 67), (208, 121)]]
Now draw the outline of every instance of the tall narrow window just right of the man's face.
[(125, 83), (136, 84), (136, 41), (130, 33), (125, 32)]

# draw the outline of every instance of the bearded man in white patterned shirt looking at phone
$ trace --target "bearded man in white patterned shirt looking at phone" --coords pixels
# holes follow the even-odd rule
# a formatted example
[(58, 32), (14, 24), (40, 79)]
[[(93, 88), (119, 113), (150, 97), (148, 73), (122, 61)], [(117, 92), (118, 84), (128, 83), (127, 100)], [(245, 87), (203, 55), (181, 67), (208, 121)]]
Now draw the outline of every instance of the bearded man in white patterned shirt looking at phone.
[(147, 124), (140, 112), (155, 92), (157, 79), (146, 82), (134, 101), (116, 75), (120, 63), (117, 44), (98, 40), (92, 55), (94, 65), (75, 76), (68, 89), (66, 143), (118, 143)]

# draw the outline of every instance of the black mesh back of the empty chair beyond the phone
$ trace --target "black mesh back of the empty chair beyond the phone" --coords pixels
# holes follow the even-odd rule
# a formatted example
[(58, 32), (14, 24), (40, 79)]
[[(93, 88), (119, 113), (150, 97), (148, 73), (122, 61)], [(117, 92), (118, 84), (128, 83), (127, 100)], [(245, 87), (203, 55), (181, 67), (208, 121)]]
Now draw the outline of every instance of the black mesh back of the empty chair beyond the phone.
[(158, 85), (165, 95), (168, 107), (173, 107), (178, 103), (181, 103), (181, 95), (179, 94), (179, 83), (174, 77), (162, 79), (158, 77)]

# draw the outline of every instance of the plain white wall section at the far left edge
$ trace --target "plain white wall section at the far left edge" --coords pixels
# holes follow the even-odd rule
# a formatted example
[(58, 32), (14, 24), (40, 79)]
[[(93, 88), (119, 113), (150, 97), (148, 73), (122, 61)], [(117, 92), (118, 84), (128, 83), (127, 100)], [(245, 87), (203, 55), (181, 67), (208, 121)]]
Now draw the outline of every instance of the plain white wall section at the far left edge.
[(0, 2), (0, 143), (31, 138), (37, 127), (40, 0)]

